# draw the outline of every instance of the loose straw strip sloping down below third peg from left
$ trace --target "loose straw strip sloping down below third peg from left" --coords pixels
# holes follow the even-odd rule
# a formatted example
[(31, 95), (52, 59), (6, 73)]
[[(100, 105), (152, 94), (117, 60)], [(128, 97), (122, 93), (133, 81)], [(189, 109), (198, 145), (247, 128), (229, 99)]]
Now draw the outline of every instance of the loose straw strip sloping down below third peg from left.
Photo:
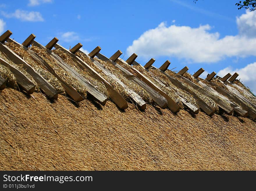
[(108, 92), (106, 90), (105, 85), (101, 82), (98, 81), (94, 78), (92, 78), (89, 74), (89, 72), (86, 69), (81, 69), (77, 66), (77, 63), (75, 63), (71, 56), (68, 55), (67, 53), (59, 50), (59, 49), (54, 49), (53, 52), (57, 54), (65, 63), (67, 63), (71, 68), (73, 68), (75, 71), (77, 71), (83, 78), (85, 78), (90, 84), (92, 84), (97, 90), (108, 96)]

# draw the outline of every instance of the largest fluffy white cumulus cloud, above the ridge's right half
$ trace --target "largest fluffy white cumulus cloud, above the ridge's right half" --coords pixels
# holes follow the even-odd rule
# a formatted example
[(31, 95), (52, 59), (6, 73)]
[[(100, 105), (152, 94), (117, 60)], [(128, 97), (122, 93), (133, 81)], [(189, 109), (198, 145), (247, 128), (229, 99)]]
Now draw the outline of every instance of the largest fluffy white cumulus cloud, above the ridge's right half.
[(145, 59), (174, 56), (197, 63), (213, 63), (232, 56), (256, 56), (256, 11), (237, 17), (237, 27), (238, 35), (220, 38), (218, 32), (210, 32), (208, 24), (192, 28), (162, 22), (134, 40), (127, 52), (129, 55), (135, 52)]

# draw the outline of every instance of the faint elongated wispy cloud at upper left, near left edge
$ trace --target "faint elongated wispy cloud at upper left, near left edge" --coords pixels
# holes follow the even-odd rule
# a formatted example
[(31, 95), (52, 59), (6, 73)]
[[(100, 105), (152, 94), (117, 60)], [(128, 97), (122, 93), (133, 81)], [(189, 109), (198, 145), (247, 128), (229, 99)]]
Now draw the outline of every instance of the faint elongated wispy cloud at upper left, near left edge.
[(6, 18), (16, 18), (21, 21), (30, 21), (30, 22), (36, 22), (36, 21), (44, 21), (41, 13), (35, 12), (35, 11), (25, 11), (17, 9), (14, 13), (6, 13), (1, 12), (1, 14)]

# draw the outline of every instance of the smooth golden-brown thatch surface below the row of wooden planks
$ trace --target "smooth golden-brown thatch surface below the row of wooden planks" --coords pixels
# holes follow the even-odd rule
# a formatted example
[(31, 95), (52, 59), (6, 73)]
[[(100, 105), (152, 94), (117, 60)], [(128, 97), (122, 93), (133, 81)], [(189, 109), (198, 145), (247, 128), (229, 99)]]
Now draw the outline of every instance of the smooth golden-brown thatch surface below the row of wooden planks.
[(0, 92), (0, 170), (256, 170), (248, 118), (33, 95)]

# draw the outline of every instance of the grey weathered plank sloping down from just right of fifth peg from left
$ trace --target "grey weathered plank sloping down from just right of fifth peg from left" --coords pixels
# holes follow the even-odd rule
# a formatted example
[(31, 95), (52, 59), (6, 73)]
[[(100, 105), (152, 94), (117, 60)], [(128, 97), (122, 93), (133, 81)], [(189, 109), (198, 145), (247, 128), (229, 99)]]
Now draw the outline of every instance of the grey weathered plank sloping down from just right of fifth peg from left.
[(134, 76), (131, 72), (129, 72), (128, 70), (126, 70), (122, 66), (118, 65), (114, 61), (110, 60), (109, 58), (107, 58), (103, 54), (97, 53), (96, 56), (99, 59), (103, 60), (103, 61), (110, 61), (115, 67), (117, 67), (118, 69), (120, 69), (122, 71), (123, 76), (125, 76), (125, 78), (127, 78), (128, 80), (130, 80), (130, 81), (136, 83), (137, 85), (141, 86), (152, 97), (152, 99), (154, 100), (155, 103), (157, 103), (157, 105), (159, 105), (161, 108), (166, 108), (167, 100), (162, 95), (160, 95), (158, 92), (156, 92), (155, 90), (150, 88), (146, 83), (141, 81), (139, 78)]

